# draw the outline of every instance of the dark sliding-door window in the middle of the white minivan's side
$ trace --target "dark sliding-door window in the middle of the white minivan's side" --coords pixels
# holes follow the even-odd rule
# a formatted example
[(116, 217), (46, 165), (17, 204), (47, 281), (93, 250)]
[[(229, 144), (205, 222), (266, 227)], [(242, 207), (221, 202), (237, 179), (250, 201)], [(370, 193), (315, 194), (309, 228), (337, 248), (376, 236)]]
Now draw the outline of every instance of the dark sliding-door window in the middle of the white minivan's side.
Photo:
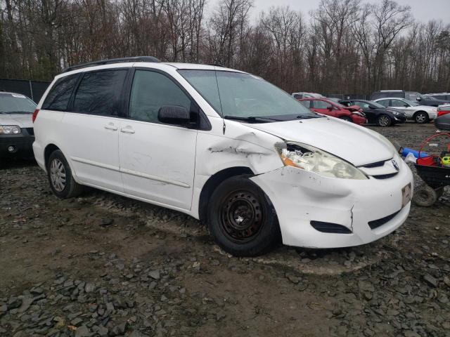
[(79, 83), (73, 112), (117, 116), (121, 107), (121, 93), (128, 70), (87, 72)]

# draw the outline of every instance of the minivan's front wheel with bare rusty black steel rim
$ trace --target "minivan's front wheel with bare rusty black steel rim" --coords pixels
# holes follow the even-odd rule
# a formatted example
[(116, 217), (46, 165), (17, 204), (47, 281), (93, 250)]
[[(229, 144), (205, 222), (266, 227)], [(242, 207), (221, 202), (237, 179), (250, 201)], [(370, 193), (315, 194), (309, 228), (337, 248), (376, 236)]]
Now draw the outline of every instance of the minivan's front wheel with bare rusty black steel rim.
[(212, 193), (207, 210), (212, 237), (233, 256), (258, 256), (280, 238), (274, 206), (249, 178), (224, 180)]

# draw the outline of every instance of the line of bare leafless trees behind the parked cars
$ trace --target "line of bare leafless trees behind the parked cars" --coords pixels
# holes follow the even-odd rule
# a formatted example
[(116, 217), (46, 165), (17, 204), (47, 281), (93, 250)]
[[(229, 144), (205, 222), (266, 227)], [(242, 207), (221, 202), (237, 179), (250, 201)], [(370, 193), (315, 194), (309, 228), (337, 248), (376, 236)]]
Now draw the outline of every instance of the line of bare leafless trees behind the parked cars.
[(49, 81), (69, 65), (153, 55), (288, 92), (450, 91), (450, 23), (418, 22), (392, 0), (274, 6), (257, 19), (252, 0), (0, 0), (0, 11), (1, 78)]

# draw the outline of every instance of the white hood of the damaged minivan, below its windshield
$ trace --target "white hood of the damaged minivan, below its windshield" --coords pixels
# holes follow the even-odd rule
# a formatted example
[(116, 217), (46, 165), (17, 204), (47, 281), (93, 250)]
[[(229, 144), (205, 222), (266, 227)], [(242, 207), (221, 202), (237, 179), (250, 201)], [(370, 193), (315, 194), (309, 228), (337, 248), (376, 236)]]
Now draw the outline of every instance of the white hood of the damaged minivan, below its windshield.
[(378, 133), (335, 118), (248, 125), (284, 140), (317, 147), (349, 161), (354, 166), (386, 161), (394, 157), (394, 150), (381, 140)]

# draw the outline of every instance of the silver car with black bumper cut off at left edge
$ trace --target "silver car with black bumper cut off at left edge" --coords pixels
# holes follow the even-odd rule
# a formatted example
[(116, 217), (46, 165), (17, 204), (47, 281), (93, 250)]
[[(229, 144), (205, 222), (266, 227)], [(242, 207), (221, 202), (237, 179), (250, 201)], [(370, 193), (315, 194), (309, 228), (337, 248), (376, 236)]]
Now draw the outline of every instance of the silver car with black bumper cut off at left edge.
[(25, 95), (0, 92), (0, 161), (33, 157), (34, 109), (36, 103)]

